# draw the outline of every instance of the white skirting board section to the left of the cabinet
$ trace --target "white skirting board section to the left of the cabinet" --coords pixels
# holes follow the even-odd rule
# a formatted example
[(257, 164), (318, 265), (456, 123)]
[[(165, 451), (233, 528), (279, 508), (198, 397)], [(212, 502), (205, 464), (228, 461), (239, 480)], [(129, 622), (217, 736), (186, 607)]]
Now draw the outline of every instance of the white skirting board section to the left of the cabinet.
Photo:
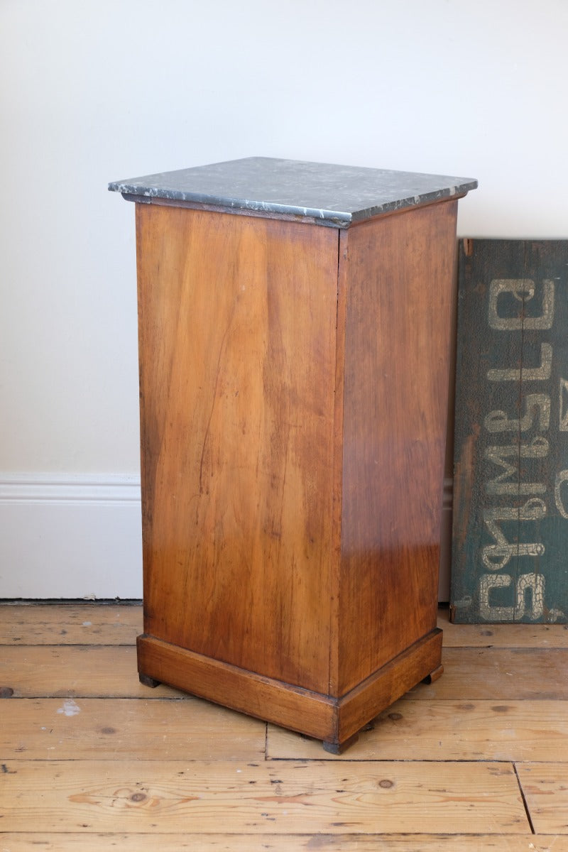
[(140, 477), (0, 473), (0, 598), (141, 598)]

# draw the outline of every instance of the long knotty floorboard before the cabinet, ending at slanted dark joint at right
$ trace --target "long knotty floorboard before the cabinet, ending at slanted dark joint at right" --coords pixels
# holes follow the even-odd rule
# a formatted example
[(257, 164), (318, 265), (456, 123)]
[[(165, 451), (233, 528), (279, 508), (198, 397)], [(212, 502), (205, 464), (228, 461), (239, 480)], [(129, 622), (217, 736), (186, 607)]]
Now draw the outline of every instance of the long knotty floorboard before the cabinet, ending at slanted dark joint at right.
[[(200, 763), (6, 761), (3, 830), (26, 831), (49, 811), (51, 831), (384, 834), (527, 832), (512, 766), (448, 763)], [(464, 771), (466, 770), (466, 771)], [(325, 781), (322, 780), (322, 773)], [(242, 792), (238, 795), (236, 792)], [(163, 831), (163, 828), (162, 828)]]

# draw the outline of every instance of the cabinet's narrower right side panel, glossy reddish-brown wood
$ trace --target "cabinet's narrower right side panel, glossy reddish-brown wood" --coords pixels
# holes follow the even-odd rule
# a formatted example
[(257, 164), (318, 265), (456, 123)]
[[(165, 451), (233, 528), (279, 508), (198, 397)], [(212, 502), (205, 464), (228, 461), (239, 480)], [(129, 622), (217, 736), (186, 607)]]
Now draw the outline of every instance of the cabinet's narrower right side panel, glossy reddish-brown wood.
[(340, 694), (436, 625), (456, 207), (349, 232)]

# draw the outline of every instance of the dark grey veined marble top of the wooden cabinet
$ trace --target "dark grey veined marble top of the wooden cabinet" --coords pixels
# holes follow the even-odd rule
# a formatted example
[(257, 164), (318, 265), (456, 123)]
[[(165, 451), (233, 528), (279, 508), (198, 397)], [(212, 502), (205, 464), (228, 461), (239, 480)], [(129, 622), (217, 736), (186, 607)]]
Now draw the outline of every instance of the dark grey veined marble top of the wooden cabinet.
[(477, 181), (466, 177), (247, 157), (114, 181), (108, 188), (146, 203), (170, 199), (348, 227), (393, 210), (462, 196), (475, 187)]

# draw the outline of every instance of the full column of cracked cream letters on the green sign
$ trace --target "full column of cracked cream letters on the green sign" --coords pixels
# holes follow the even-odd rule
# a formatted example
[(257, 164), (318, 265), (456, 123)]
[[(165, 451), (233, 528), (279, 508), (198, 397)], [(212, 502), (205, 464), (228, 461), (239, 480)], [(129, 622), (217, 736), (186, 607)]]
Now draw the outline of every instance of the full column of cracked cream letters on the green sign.
[[(508, 304), (505, 300), (508, 299)], [(511, 299), (519, 302), (519, 310), (511, 312)], [(527, 315), (527, 303), (534, 300), (536, 315)], [(532, 306), (531, 306), (532, 307)], [(507, 314), (513, 315), (507, 315)], [(519, 333), (519, 331), (546, 331), (554, 323), (554, 280), (543, 279), (536, 286), (532, 279), (493, 279), (489, 291), (489, 326), (495, 331)], [(550, 449), (548, 433), (551, 424), (551, 394), (548, 387), (534, 383), (550, 382), (553, 369), (553, 346), (548, 341), (540, 342), (540, 364), (525, 367), (493, 367), (487, 371), (491, 383), (518, 382), (520, 385), (519, 417), (496, 408), (484, 418), (485, 430), (495, 435), (495, 443), (485, 448), (484, 458), (495, 465), (495, 473), (485, 482), (488, 498), (509, 497), (525, 502), (516, 506), (494, 506), (483, 509), (484, 526), (491, 535), (492, 543), (481, 548), (479, 556), (485, 571), (479, 578), (479, 614), (488, 621), (513, 621), (519, 619), (542, 619), (545, 612), (545, 578), (539, 570), (539, 559), (544, 556), (546, 546), (542, 540), (522, 541), (536, 538), (539, 524), (548, 512), (547, 493), (554, 491), (554, 505), (559, 515), (568, 519), (563, 499), (563, 486), (568, 482), (568, 470), (556, 475), (554, 483), (546, 481), (545, 467), (538, 464), (530, 468), (531, 481), (521, 481), (521, 460), (546, 458)], [(528, 391), (525, 393), (525, 389)], [(568, 383), (560, 380), (559, 430), (568, 431)], [(498, 443), (502, 437), (502, 443)], [(528, 499), (527, 499), (528, 498)], [(508, 522), (514, 522), (514, 526)], [(525, 536), (521, 530), (526, 526)], [(513, 535), (510, 531), (515, 530)], [(508, 539), (510, 536), (511, 540)], [(511, 563), (513, 559), (515, 562)], [(517, 561), (524, 558), (536, 560), (534, 570), (523, 570), (516, 574)], [(508, 566), (511, 573), (503, 573)], [(523, 563), (519, 562), (519, 568)], [(528, 567), (528, 566), (527, 566)], [(492, 592), (510, 589), (510, 605), (492, 599)], [(551, 609), (548, 620), (561, 616), (559, 610)]]

